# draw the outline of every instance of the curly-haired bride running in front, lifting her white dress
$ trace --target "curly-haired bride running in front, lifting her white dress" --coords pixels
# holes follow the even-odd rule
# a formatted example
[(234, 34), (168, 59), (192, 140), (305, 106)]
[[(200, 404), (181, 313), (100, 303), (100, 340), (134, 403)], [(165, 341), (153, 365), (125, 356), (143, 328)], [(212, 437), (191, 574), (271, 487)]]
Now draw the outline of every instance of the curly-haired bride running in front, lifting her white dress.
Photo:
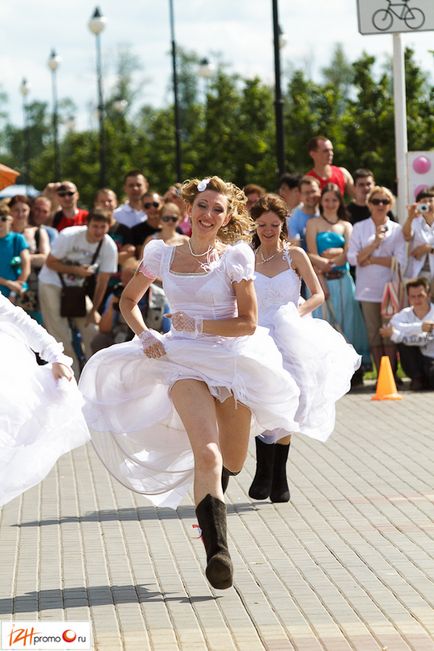
[[(251, 427), (297, 430), (299, 392), (256, 327), (254, 254), (239, 241), (252, 227), (244, 193), (213, 176), (186, 181), (182, 196), (191, 240), (145, 247), (121, 298), (137, 337), (94, 355), (80, 389), (95, 449), (125, 486), (176, 508), (194, 476), (206, 576), (224, 589), (232, 563), (222, 466), (241, 470)], [(172, 309), (166, 335), (148, 330), (137, 307), (157, 277)]]

